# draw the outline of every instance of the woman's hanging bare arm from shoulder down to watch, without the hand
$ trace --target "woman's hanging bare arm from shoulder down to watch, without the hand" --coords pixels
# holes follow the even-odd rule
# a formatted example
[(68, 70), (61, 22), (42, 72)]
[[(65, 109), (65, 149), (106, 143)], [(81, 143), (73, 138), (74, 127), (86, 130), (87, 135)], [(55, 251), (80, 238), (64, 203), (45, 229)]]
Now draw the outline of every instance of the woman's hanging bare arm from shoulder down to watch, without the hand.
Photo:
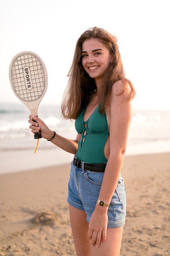
[(110, 105), (110, 155), (99, 194), (99, 199), (105, 200), (106, 203), (110, 202), (117, 186), (132, 119), (132, 101), (126, 99), (128, 91), (119, 96), (115, 95), (119, 90), (118, 84)]

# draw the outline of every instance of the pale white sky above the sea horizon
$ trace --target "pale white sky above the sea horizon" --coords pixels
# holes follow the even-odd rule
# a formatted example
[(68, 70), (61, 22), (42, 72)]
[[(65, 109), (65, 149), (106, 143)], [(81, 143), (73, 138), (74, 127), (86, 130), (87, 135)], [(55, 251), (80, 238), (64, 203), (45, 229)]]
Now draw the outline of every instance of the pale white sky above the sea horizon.
[(42, 103), (60, 103), (77, 39), (94, 26), (117, 36), (126, 76), (137, 90), (134, 107), (170, 110), (168, 0), (1, 0), (0, 103), (19, 102), (9, 65), (23, 51), (46, 65)]

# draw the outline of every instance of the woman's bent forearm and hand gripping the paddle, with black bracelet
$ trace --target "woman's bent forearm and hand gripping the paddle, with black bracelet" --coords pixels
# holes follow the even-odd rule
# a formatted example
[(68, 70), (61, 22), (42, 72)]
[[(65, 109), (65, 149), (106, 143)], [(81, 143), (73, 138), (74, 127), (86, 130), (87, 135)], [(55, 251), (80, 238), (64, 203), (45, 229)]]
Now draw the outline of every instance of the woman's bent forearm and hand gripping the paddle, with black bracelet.
[[(35, 121), (33, 121), (35, 120)], [(46, 126), (44, 121), (42, 121), (39, 117), (35, 117), (33, 115), (29, 116), (29, 123), (31, 124), (29, 128), (31, 128), (31, 131), (33, 133), (41, 131), (42, 138), (44, 139), (51, 139), (54, 135), (54, 132)], [(80, 139), (80, 135), (77, 134), (77, 137), (75, 140), (72, 139), (66, 139), (65, 137), (62, 137), (56, 133), (55, 137), (51, 140), (53, 144), (58, 146), (59, 148), (62, 148), (66, 152), (75, 154), (77, 148), (78, 148), (78, 141)]]

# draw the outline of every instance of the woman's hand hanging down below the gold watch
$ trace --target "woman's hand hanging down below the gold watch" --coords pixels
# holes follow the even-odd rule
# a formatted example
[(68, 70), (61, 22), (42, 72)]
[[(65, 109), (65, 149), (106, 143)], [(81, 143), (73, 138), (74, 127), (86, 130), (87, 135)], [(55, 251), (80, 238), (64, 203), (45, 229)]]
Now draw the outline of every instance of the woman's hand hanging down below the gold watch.
[(91, 239), (91, 245), (99, 247), (101, 240), (106, 241), (106, 231), (108, 225), (107, 207), (97, 205), (93, 211), (88, 228), (88, 238)]

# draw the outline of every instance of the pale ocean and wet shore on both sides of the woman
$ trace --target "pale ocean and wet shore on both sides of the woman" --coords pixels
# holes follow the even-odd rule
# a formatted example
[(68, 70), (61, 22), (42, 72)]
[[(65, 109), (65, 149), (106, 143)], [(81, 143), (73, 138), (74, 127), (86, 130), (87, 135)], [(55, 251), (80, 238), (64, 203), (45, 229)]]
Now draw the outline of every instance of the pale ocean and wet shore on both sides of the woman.
[[(60, 105), (41, 103), (38, 116), (60, 135), (75, 139), (74, 121), (61, 117)], [(37, 140), (29, 129), (28, 117), (23, 103), (0, 103), (0, 173), (70, 161), (72, 156), (62, 156), (63, 150), (44, 139), (39, 140), (35, 161)], [(163, 152), (170, 152), (170, 111), (135, 109), (126, 155)]]

